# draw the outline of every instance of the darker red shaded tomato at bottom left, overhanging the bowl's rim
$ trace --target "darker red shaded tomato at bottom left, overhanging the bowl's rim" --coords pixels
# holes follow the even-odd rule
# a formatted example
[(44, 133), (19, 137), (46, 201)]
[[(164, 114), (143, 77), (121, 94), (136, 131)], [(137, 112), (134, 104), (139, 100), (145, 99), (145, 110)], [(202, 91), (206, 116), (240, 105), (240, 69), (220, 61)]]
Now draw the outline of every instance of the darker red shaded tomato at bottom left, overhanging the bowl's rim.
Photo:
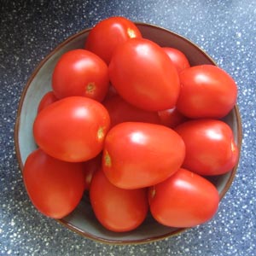
[(23, 180), (33, 205), (50, 218), (67, 216), (84, 194), (83, 164), (56, 160), (40, 148), (28, 155)]

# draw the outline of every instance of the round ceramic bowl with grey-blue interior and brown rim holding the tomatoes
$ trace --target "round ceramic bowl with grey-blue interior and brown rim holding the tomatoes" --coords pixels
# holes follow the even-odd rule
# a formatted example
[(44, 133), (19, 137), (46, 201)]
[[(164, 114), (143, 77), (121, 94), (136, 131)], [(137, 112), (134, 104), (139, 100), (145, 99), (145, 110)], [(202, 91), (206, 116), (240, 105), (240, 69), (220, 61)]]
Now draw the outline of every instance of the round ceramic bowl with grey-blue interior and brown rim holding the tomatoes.
[[(144, 23), (136, 23), (144, 38), (153, 40), (160, 46), (174, 47), (183, 51), (188, 57), (190, 65), (212, 64), (216, 65), (212, 58), (207, 55), (196, 44), (183, 38), (175, 32), (168, 31), (160, 26), (154, 26)], [(90, 29), (85, 29), (67, 38), (62, 44), (57, 46), (43, 61), (28, 79), (26, 86), (20, 98), (17, 119), (15, 124), (15, 150), (22, 172), (26, 157), (37, 148), (32, 137), (32, 124), (37, 114), (38, 102), (44, 94), (51, 90), (51, 76), (56, 61), (62, 54), (71, 49), (84, 47), (84, 41), (88, 36)], [(239, 150), (241, 149), (241, 119), (240, 113), (235, 106), (224, 118), (224, 121), (230, 125), (234, 132), (235, 140)], [(235, 166), (230, 172), (212, 178), (212, 183), (218, 189), (220, 199), (230, 189), (230, 185), (236, 175)], [(54, 220), (53, 220), (54, 221)], [(66, 218), (57, 220), (68, 229), (78, 232), (80, 235), (96, 241), (102, 241), (113, 244), (131, 244), (144, 243), (164, 239), (168, 236), (174, 236), (186, 229), (177, 229), (158, 224), (151, 216), (145, 219), (143, 224), (136, 230), (125, 233), (114, 233), (106, 230), (96, 220), (90, 207), (88, 195), (84, 194), (79, 206)]]

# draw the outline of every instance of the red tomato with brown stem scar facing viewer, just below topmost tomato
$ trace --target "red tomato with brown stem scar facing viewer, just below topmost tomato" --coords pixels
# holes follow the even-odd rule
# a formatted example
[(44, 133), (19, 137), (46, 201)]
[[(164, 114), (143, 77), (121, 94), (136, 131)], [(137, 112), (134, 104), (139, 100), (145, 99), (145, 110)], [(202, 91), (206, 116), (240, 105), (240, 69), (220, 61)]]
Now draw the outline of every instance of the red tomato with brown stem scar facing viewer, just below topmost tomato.
[(52, 75), (52, 89), (60, 99), (86, 96), (102, 102), (108, 86), (108, 66), (85, 49), (73, 49), (61, 55)]

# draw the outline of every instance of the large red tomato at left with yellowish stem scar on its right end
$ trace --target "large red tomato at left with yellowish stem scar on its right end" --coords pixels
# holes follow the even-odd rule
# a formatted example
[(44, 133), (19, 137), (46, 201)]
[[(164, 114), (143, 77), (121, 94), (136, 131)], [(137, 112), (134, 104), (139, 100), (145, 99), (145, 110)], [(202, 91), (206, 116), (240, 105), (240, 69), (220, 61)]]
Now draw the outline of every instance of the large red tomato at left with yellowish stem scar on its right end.
[(38, 146), (70, 162), (90, 160), (102, 151), (110, 118), (106, 108), (83, 96), (66, 97), (36, 117), (33, 135)]

